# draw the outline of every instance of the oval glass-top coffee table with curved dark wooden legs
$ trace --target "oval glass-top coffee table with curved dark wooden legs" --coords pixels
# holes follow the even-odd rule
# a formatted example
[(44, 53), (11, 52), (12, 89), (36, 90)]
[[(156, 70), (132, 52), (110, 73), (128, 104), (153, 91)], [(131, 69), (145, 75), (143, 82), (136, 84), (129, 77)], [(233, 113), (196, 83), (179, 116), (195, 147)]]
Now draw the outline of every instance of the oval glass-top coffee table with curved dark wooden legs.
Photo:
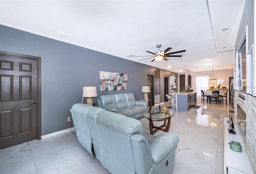
[[(170, 128), (171, 117), (173, 115), (174, 115), (174, 113), (169, 112), (169, 111), (167, 111), (166, 114), (160, 113), (160, 112), (154, 112), (154, 111), (147, 111), (147, 112), (143, 113), (143, 117), (148, 118), (148, 120), (149, 120), (150, 134), (152, 134), (152, 135), (159, 129), (164, 132), (168, 132), (169, 128)], [(166, 120), (168, 120), (167, 124), (166, 124)], [(154, 126), (153, 121), (154, 122), (164, 121), (164, 124), (159, 127)], [(163, 127), (165, 127), (165, 128), (163, 128)], [(153, 129), (155, 129), (155, 130), (153, 130)]]

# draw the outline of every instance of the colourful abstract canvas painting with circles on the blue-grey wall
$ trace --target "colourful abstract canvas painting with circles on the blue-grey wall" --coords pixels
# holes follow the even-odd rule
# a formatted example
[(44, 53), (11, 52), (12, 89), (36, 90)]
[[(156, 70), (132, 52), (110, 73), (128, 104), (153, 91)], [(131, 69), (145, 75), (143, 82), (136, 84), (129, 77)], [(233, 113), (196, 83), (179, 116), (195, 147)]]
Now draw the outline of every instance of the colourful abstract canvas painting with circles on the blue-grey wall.
[(100, 91), (127, 90), (127, 74), (100, 71)]

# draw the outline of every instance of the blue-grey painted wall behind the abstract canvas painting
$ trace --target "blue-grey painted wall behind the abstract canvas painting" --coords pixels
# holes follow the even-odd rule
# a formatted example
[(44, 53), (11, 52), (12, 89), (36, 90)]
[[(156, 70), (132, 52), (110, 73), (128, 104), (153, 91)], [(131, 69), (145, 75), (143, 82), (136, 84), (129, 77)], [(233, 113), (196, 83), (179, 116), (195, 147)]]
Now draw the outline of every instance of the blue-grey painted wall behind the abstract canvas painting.
[[(67, 117), (72, 105), (81, 102), (83, 86), (96, 86), (98, 96), (133, 92), (140, 100), (144, 98), (141, 87), (147, 85), (147, 74), (154, 75), (152, 66), (3, 25), (0, 50), (41, 57), (42, 135), (70, 128)], [(100, 92), (100, 71), (127, 73), (127, 90)], [(160, 75), (162, 82), (164, 77), (178, 77), (166, 70), (160, 70)], [(164, 83), (160, 90), (160, 102), (164, 102)]]

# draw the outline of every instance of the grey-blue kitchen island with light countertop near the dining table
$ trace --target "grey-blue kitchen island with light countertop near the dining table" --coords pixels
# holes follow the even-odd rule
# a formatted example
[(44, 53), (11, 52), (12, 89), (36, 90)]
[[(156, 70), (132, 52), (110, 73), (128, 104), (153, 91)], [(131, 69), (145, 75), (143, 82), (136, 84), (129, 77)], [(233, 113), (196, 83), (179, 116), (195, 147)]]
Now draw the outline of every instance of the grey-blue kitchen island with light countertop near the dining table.
[(172, 108), (175, 110), (187, 111), (191, 106), (196, 105), (197, 92), (175, 92), (172, 93)]

